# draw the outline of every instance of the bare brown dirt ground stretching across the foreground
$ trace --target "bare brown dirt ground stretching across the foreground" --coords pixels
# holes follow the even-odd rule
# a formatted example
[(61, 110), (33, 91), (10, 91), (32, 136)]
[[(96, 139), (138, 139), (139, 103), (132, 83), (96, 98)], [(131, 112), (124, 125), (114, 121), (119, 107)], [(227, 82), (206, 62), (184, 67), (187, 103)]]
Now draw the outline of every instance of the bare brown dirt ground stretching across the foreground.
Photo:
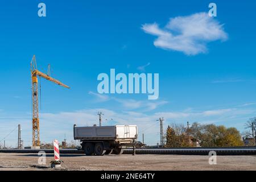
[[(46, 155), (46, 165), (39, 165), (37, 154), (0, 153), (0, 171), (60, 170), (50, 168), (53, 155)], [(209, 165), (208, 156), (197, 155), (61, 155), (61, 170), (256, 170), (256, 156), (217, 156)]]

